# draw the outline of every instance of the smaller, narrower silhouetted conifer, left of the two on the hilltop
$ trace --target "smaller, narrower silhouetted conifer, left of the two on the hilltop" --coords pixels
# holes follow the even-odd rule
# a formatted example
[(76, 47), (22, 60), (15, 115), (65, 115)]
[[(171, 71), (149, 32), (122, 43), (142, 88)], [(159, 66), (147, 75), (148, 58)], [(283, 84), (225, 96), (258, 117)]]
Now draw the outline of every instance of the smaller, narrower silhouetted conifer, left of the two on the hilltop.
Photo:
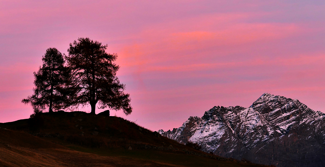
[(53, 109), (61, 108), (65, 98), (62, 95), (66, 74), (65, 61), (56, 48), (48, 48), (42, 60), (43, 66), (34, 72), (34, 93), (21, 102), (31, 103), (33, 107), (41, 109), (48, 107), (49, 112), (53, 112)]

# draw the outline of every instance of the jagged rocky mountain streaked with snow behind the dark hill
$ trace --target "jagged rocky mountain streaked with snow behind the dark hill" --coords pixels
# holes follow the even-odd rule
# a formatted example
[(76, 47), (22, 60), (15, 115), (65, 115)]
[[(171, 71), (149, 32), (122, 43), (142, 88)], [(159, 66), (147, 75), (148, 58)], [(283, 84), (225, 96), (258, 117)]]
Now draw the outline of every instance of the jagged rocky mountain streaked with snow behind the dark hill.
[(249, 108), (216, 107), (173, 131), (158, 131), (215, 155), (255, 163), (325, 166), (325, 114), (297, 99), (263, 94)]

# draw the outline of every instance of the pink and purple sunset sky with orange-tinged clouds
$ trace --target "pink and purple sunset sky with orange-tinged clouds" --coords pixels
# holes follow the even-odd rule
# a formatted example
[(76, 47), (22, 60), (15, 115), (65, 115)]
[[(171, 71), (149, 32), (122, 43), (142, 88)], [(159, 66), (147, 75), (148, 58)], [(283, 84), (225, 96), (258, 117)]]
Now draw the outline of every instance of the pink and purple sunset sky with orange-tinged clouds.
[(265, 92), (324, 112), (324, 8), (320, 0), (0, 1), (0, 122), (32, 114), (20, 101), (46, 49), (67, 53), (78, 37), (119, 55), (134, 111), (111, 114), (154, 131), (214, 106), (249, 107)]

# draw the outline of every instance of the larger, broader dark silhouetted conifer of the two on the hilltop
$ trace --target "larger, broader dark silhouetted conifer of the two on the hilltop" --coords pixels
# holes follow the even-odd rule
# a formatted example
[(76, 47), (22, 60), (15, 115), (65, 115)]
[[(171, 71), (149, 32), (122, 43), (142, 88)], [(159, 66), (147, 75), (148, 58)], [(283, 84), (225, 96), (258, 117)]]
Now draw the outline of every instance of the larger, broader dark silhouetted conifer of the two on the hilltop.
[(107, 54), (106, 49), (107, 45), (89, 38), (78, 38), (70, 43), (66, 59), (74, 79), (71, 105), (90, 104), (91, 113), (95, 114), (98, 103), (99, 109), (123, 109), (129, 115), (131, 99), (123, 92), (125, 85), (116, 77), (120, 67), (113, 63), (117, 54)]

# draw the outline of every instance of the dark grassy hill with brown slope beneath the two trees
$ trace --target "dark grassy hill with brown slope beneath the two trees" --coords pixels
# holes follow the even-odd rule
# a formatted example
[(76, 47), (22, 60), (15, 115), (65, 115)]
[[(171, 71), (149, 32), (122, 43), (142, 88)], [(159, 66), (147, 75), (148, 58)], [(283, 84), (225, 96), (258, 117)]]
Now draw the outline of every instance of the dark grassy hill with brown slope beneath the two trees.
[(114, 116), (41, 113), (0, 123), (0, 166), (263, 166), (195, 150)]

